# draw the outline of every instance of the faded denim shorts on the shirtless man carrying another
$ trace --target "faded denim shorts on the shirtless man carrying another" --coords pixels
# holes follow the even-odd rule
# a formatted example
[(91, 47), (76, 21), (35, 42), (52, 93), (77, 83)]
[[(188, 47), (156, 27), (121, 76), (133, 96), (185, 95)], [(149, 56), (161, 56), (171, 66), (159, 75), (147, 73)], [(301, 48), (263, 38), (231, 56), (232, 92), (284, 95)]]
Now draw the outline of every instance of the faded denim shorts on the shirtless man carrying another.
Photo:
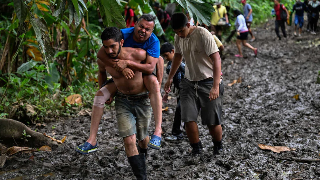
[[(146, 93), (143, 92), (136, 95), (142, 94)], [(140, 101), (128, 101), (126, 99), (116, 97), (115, 102), (119, 136), (127, 137), (129, 135), (136, 134), (136, 138), (139, 141), (142, 141), (148, 135), (152, 112), (150, 99), (147, 98)]]

